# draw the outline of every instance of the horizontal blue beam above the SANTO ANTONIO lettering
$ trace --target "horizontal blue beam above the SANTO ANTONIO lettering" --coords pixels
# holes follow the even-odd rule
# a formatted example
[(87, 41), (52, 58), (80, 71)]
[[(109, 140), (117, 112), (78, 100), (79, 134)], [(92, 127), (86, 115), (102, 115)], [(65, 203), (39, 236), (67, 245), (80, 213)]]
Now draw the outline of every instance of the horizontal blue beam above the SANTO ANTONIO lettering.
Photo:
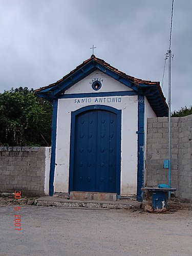
[(135, 96), (138, 95), (134, 91), (125, 92), (103, 92), (103, 93), (76, 93), (76, 94), (63, 94), (60, 95), (59, 99), (71, 99), (71, 98), (94, 98), (94, 97), (111, 97), (111, 96)]

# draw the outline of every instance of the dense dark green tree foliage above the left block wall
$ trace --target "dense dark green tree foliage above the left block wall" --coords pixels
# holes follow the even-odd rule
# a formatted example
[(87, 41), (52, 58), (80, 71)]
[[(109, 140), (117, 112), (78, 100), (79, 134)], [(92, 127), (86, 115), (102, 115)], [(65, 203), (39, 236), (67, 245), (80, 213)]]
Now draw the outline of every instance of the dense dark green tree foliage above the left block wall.
[(51, 145), (52, 104), (37, 97), (33, 89), (0, 93), (0, 113), (0, 145)]

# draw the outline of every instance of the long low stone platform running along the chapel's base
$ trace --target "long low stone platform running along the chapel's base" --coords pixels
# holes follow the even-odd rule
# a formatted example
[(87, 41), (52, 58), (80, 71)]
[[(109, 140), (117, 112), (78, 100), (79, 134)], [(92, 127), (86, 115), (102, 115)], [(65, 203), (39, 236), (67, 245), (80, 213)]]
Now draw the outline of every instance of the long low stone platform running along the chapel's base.
[(135, 209), (141, 206), (141, 202), (122, 201), (94, 201), (94, 200), (68, 200), (59, 197), (41, 197), (35, 200), (37, 206), (57, 206), (75, 208), (108, 208), (108, 209)]

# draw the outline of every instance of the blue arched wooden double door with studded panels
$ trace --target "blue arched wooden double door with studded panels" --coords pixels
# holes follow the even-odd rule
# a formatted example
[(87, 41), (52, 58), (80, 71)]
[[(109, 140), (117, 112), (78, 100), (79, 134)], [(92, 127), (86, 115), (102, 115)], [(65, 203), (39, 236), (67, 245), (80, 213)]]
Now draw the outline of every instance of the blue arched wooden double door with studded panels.
[[(73, 190), (117, 193), (117, 114), (90, 110), (75, 117)], [(120, 180), (120, 178), (119, 178)]]

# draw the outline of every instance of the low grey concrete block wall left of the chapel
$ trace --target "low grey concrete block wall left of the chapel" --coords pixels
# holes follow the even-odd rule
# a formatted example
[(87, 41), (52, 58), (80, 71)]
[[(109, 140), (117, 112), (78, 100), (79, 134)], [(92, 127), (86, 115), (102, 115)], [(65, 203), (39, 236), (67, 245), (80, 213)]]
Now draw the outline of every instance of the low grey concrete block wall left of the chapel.
[(44, 195), (46, 158), (50, 157), (46, 152), (46, 147), (0, 147), (0, 191)]

